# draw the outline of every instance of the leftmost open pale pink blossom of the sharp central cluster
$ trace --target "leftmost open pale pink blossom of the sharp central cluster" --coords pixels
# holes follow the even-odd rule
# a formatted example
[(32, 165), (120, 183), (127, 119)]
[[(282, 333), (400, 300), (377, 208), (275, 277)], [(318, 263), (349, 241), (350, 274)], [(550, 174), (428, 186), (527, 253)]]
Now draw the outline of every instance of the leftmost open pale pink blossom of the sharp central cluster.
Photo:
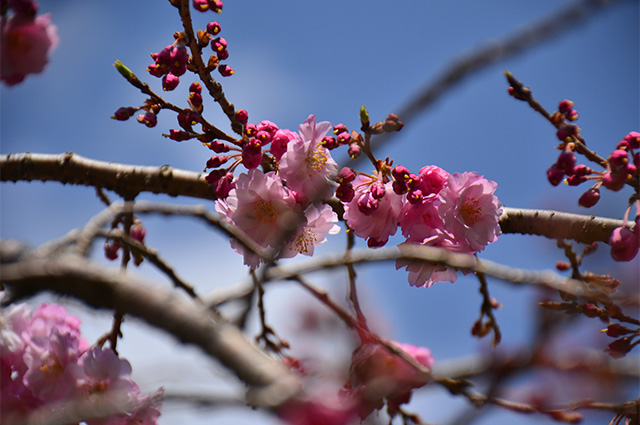
[[(292, 226), (304, 224), (296, 199), (280, 178), (273, 172), (265, 174), (258, 169), (241, 174), (229, 196), (216, 201), (216, 211), (265, 248), (279, 248), (287, 242), (285, 238)], [(293, 230), (295, 234), (295, 228)], [(246, 265), (256, 268), (260, 264), (260, 258), (237, 241), (232, 240), (231, 246), (244, 255)]]

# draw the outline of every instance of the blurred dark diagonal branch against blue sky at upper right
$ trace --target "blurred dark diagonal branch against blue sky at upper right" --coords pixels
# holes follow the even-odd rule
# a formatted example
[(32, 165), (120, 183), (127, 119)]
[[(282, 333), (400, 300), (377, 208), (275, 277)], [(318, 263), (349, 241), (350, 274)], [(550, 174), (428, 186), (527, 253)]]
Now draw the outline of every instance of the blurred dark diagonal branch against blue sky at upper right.
[[(454, 60), (429, 85), (409, 100), (398, 117), (409, 124), (419, 114), (436, 103), (445, 93), (473, 73), (501, 60), (526, 51), (544, 41), (557, 37), (608, 6), (624, 0), (582, 0), (551, 13), (539, 22), (506, 37), (502, 41), (487, 42), (484, 47)], [(384, 133), (375, 139), (376, 147), (388, 142), (397, 133)]]

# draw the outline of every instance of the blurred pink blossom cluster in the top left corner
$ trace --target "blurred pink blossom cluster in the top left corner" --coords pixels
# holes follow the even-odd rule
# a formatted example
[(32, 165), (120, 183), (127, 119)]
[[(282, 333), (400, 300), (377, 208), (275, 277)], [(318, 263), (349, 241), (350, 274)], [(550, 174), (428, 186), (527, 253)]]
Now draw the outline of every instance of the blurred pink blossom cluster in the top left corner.
[(51, 15), (36, 16), (35, 0), (3, 1), (0, 17), (0, 80), (8, 86), (22, 82), (28, 74), (41, 73), (58, 45), (58, 33)]

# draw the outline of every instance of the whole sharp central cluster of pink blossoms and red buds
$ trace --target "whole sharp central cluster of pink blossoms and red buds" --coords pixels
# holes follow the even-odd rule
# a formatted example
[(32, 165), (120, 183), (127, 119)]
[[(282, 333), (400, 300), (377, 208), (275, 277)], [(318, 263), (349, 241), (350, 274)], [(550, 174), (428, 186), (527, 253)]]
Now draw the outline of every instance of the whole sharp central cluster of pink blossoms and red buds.
[[(215, 186), (216, 210), (261, 246), (278, 249), (280, 257), (312, 255), (326, 234), (339, 231), (336, 214), (317, 201), (335, 195), (344, 205), (344, 221), (370, 247), (385, 245), (400, 227), (404, 243), (476, 253), (500, 235), (501, 204), (494, 195), (497, 184), (477, 173), (449, 174), (436, 166), (418, 175), (403, 166), (379, 161), (372, 174), (343, 168), (331, 157), (331, 148), (349, 145), (356, 151), (361, 136), (349, 134), (342, 124), (316, 123), (314, 115), (298, 133), (282, 130), (270, 121), (246, 124), (239, 146), (219, 140), (207, 143), (218, 154), (207, 161), (214, 168), (207, 181)], [(229, 154), (230, 153), (230, 154)], [(227, 168), (220, 168), (229, 161)], [(234, 179), (239, 165), (249, 169)], [(263, 172), (259, 166), (271, 169)], [(321, 205), (321, 206), (320, 206)], [(293, 224), (292, 224), (293, 223)], [(237, 241), (234, 250), (245, 264), (257, 267), (260, 259)], [(414, 286), (456, 280), (456, 271), (426, 262), (398, 261), (407, 267)]]

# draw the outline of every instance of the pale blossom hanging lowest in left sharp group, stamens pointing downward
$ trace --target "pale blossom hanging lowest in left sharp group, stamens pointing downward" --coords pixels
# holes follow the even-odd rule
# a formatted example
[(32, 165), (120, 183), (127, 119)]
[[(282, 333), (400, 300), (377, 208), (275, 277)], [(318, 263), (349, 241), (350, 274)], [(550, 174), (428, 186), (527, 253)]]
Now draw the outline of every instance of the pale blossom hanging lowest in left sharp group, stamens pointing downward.
[(312, 256), (314, 248), (327, 241), (327, 234), (340, 232), (338, 215), (329, 205), (310, 205), (304, 212), (307, 224), (296, 237), (280, 250), (280, 257), (290, 258), (300, 253)]

